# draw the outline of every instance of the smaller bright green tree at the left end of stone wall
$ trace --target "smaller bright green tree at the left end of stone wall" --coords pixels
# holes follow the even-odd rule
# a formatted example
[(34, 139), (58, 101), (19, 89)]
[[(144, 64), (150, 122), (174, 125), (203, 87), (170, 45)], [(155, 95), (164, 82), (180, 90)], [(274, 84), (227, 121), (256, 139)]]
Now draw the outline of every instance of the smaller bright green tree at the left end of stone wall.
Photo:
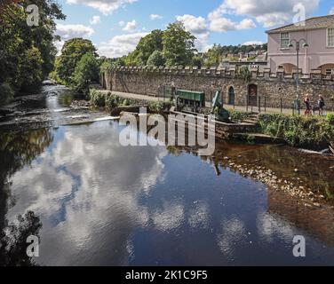
[(76, 91), (86, 93), (91, 82), (99, 80), (99, 62), (94, 54), (86, 53), (76, 65), (72, 84)]

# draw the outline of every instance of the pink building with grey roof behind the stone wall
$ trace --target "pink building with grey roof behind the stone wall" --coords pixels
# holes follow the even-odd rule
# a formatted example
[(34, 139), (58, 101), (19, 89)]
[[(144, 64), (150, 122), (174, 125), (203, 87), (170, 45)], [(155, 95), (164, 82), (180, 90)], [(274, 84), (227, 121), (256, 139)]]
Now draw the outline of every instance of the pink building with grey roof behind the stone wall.
[(278, 68), (284, 68), (288, 74), (295, 68), (297, 71), (296, 41), (300, 41), (299, 68), (302, 72), (309, 74), (312, 69), (321, 69), (322, 74), (334, 75), (334, 15), (311, 18), (266, 33), (268, 65), (272, 72)]

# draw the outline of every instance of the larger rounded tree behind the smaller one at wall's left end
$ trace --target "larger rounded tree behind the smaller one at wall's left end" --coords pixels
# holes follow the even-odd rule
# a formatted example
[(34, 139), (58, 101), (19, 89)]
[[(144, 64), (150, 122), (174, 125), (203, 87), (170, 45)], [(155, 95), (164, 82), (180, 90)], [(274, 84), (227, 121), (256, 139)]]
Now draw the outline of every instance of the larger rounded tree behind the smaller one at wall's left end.
[(83, 58), (86, 53), (97, 57), (96, 48), (88, 39), (73, 38), (64, 43), (61, 49), (61, 55), (56, 62), (56, 74), (60, 80), (67, 84), (72, 84), (73, 74), (77, 63)]

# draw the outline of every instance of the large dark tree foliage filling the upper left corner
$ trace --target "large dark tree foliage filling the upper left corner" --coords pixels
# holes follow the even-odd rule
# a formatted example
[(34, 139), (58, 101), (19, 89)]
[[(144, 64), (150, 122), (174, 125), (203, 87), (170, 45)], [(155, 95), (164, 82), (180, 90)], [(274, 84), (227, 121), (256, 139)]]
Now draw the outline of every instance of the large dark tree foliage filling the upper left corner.
[[(38, 6), (38, 26), (27, 24), (28, 4)], [(65, 15), (53, 0), (4, 0), (0, 13), (0, 84), (7, 83), (16, 93), (31, 91), (52, 71), (55, 20)]]

